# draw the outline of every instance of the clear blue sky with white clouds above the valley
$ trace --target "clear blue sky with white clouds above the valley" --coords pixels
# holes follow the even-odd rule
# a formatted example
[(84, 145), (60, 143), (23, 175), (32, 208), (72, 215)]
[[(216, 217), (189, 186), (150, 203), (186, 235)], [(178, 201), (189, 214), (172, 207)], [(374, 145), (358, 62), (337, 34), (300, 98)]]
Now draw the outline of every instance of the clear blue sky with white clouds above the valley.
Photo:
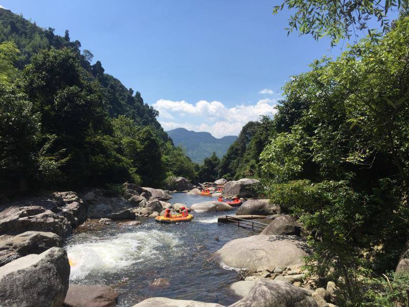
[(60, 35), (68, 29), (106, 73), (158, 109), (165, 130), (183, 126), (216, 137), (274, 113), (291, 75), (340, 53), (328, 39), (287, 37), (289, 12), (271, 15), (279, 3), (0, 0), (40, 27)]

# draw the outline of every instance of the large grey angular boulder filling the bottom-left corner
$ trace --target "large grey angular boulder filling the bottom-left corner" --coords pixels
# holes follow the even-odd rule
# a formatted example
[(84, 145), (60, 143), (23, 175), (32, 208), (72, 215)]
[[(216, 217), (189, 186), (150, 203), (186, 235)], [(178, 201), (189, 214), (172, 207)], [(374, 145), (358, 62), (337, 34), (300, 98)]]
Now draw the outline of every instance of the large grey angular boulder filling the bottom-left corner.
[(59, 307), (69, 287), (66, 251), (53, 247), (0, 268), (0, 306)]

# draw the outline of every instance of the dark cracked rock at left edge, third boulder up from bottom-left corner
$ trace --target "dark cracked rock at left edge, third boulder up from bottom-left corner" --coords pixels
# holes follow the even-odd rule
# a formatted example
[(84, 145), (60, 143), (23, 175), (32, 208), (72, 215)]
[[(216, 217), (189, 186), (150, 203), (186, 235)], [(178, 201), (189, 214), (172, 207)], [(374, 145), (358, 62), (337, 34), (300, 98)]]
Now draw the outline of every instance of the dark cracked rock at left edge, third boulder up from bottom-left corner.
[(72, 227), (65, 217), (39, 206), (12, 206), (0, 212), (0, 233), (18, 234), (29, 230), (50, 231), (66, 237)]

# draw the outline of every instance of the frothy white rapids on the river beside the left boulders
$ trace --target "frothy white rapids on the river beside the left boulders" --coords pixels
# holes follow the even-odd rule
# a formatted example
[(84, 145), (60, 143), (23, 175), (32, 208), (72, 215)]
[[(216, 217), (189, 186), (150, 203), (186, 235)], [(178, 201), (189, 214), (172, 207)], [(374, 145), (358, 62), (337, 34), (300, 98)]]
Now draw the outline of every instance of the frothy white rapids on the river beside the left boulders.
[[(88, 237), (89, 239), (89, 237)], [(89, 273), (115, 273), (126, 267), (140, 267), (139, 262), (149, 262), (150, 265), (164, 260), (164, 253), (179, 256), (183, 249), (175, 234), (144, 230), (130, 233), (120, 233), (108, 238), (95, 238), (86, 243), (66, 247), (72, 263), (71, 280), (83, 279)]]

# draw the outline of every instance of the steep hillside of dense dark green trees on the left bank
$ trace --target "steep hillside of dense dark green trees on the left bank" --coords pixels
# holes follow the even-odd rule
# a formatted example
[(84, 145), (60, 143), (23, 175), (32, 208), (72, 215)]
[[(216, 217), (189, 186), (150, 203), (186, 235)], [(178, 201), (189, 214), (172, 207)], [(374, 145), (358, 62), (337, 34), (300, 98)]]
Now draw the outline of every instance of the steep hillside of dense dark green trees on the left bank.
[(157, 111), (91, 64), (68, 30), (61, 37), (0, 9), (0, 43), (2, 190), (196, 179)]

